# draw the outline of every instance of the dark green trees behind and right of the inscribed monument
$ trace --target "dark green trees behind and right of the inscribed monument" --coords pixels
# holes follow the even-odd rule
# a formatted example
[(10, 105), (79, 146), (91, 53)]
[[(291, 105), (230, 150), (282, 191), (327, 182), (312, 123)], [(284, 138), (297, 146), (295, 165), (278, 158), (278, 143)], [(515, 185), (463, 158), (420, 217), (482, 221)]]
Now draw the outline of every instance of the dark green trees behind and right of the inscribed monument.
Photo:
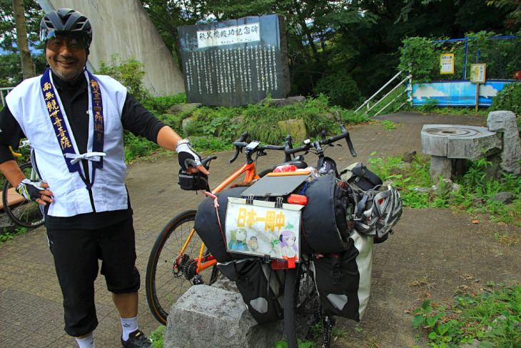
[[(469, 32), (509, 34), (512, 31), (505, 26), (512, 6), (487, 6), (487, 0), (145, 2), (148, 13), (153, 13), (154, 24), (161, 24), (158, 30), (163, 39), (173, 38), (166, 41), (168, 46), (178, 40), (176, 28), (180, 25), (263, 14), (283, 15), (290, 93), (305, 96), (325, 93), (335, 104), (344, 106), (358, 106), (354, 105), (360, 102), (358, 93), (370, 96), (398, 72), (399, 51), (408, 37), (457, 39)], [(518, 0), (488, 2), (519, 4)], [(175, 46), (177, 49), (178, 42)]]

